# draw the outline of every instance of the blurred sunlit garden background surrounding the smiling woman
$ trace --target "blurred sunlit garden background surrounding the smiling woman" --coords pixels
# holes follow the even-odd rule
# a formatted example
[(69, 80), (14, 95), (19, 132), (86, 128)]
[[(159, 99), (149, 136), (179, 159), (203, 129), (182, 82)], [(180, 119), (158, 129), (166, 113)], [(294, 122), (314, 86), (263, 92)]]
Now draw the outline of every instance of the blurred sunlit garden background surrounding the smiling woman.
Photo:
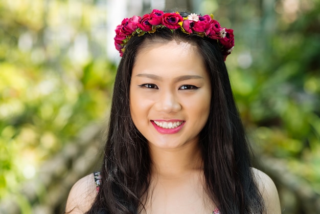
[(283, 213), (320, 213), (320, 1), (0, 0), (0, 213), (63, 213), (98, 169), (119, 56), (114, 29), (151, 8), (215, 15), (256, 167)]

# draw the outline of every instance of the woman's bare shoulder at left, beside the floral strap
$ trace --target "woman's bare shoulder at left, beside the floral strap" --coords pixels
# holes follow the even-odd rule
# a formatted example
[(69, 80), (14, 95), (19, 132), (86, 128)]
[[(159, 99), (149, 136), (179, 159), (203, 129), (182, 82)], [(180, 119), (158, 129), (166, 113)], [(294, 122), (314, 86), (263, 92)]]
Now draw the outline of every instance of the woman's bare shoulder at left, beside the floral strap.
[(94, 175), (78, 180), (71, 188), (66, 201), (65, 213), (84, 213), (89, 210), (97, 196)]

